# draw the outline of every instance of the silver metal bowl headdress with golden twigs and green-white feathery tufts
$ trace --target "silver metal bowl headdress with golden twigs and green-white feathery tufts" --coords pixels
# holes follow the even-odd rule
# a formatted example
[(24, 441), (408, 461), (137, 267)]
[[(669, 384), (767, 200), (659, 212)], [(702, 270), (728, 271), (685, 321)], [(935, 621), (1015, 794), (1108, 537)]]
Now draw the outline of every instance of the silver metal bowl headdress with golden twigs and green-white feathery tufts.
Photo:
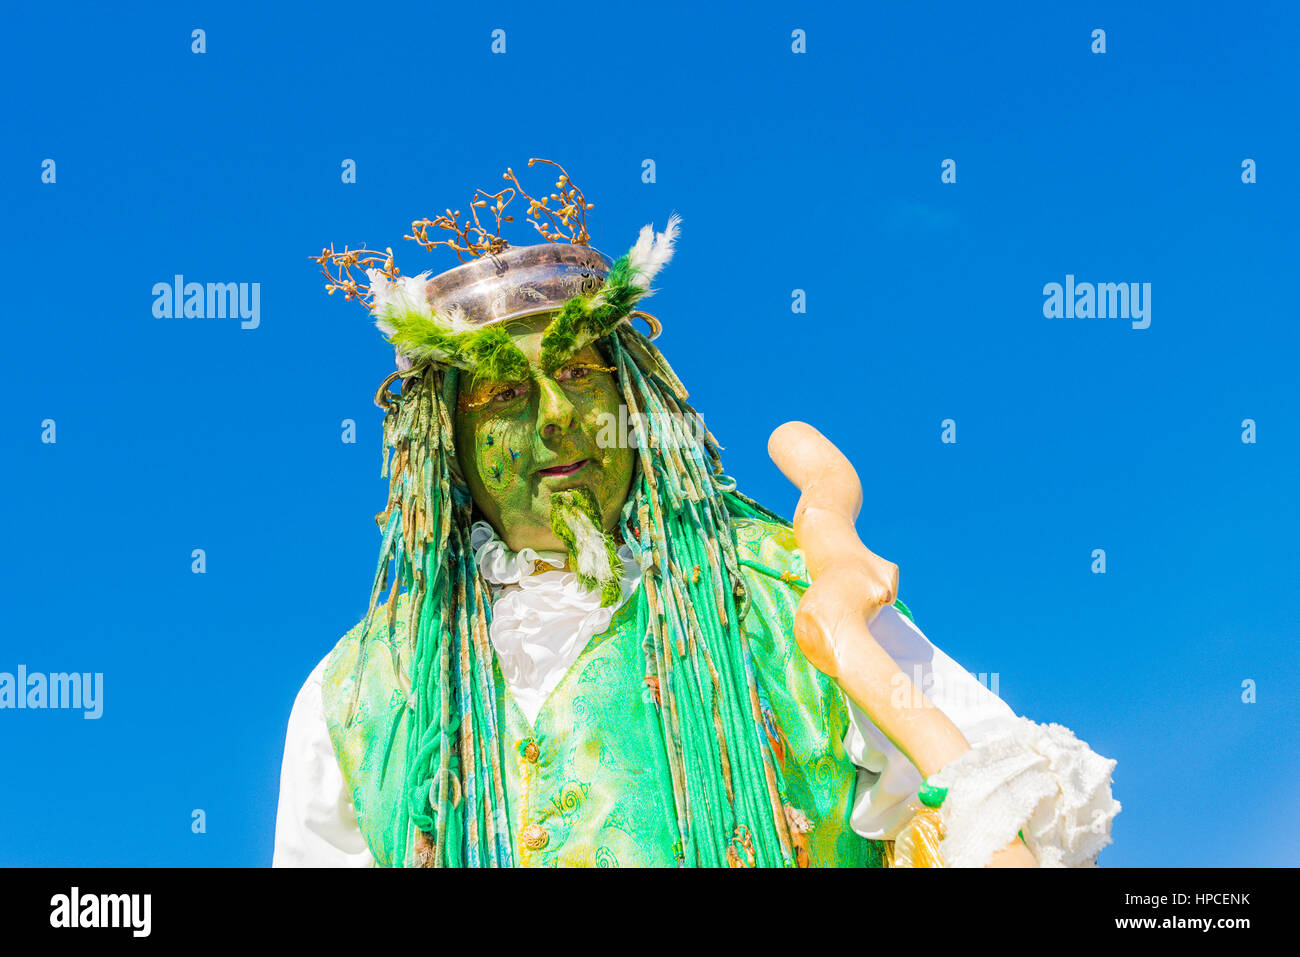
[[(586, 213), (593, 204), (564, 168), (540, 159), (528, 165), (534, 163), (559, 170), (556, 192), (534, 199), (507, 169), (504, 178), (514, 185), (498, 192), (477, 190), (467, 218), (448, 208), (433, 220), (411, 224), (411, 234), (403, 238), (425, 250), (451, 248), (462, 261), (454, 269), (432, 278), (429, 272), (403, 276), (391, 247), (377, 252), (335, 251), (332, 246), (315, 257), (329, 278), (326, 291), (342, 290), (344, 298), (370, 311), (396, 348), (400, 372), (439, 363), (486, 378), (524, 378), (528, 363), (502, 326), (547, 312), (559, 315), (546, 329), (543, 368), (608, 335), (633, 316), (649, 322), (651, 339), (658, 335), (659, 321), (636, 306), (651, 294), (650, 283), (672, 259), (680, 217), (670, 216), (658, 234), (653, 225), (644, 226), (636, 244), (611, 260), (590, 246)], [(502, 225), (514, 222), (508, 209), (516, 196), (528, 200), (528, 221), (546, 243), (511, 246), (500, 235)], [(484, 225), (484, 216), (495, 220), (494, 229)], [(430, 230), (451, 238), (430, 239)], [(364, 282), (352, 274), (355, 268), (364, 272)]]

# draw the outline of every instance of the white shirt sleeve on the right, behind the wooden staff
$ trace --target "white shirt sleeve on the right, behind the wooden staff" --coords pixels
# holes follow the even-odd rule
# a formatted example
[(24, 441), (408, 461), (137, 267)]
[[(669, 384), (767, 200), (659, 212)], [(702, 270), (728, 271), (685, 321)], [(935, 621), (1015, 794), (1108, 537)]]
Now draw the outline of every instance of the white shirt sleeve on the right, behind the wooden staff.
[[(972, 745), (1015, 722), (1005, 701), (935, 648), (893, 606), (881, 609), (870, 628), (898, 668)], [(916, 800), (920, 772), (857, 705), (848, 705), (852, 722), (844, 748), (859, 768), (850, 826), (863, 837), (893, 840), (922, 806)]]

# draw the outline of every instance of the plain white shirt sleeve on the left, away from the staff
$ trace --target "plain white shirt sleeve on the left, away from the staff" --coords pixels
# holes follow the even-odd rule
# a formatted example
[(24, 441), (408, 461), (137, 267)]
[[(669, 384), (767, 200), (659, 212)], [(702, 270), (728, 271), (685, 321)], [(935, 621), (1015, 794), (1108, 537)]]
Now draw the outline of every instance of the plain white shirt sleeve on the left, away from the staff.
[(280, 771), (272, 867), (373, 867), (325, 724), (316, 666), (294, 700)]

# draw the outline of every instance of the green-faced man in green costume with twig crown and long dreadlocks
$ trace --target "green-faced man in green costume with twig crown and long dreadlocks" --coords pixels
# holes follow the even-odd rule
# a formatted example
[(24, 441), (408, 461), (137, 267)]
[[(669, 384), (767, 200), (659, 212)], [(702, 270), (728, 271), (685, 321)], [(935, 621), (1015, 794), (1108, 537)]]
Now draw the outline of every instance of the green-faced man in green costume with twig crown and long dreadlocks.
[[(927, 797), (852, 683), (810, 663), (790, 523), (734, 488), (632, 325), (658, 330), (637, 306), (676, 217), (611, 261), (563, 170), (543, 200), (507, 178), (480, 191), (472, 220), (413, 224), (421, 246), (468, 255), (456, 269), (403, 277), (391, 251), (318, 257), (330, 291), (367, 304), (396, 348), (377, 397), (390, 494), (370, 610), (290, 718), (276, 865), (884, 866), (902, 862), (896, 839), (923, 862), (914, 822), (942, 788)], [(500, 239), (516, 194), (546, 243)], [(892, 602), (896, 570), (866, 554)], [(1032, 726), (904, 606), (880, 609), (871, 637), (972, 745)], [(993, 849), (1020, 830), (1020, 862), (1086, 863), (1109, 841), (1113, 762), (1065, 735), (1030, 749), (1041, 797), (1001, 822)], [(1062, 807), (1052, 781), (1066, 765), (1095, 793)], [(954, 797), (966, 818), (984, 813)], [(962, 845), (970, 828), (949, 831), (957, 858), (987, 862)]]

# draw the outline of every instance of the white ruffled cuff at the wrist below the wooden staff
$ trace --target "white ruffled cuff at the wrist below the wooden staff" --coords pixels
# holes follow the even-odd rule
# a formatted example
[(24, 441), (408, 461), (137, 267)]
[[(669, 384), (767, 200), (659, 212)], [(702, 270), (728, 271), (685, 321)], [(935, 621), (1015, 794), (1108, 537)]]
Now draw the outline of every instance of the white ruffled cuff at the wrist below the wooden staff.
[(1017, 718), (928, 783), (948, 788), (940, 809), (949, 867), (984, 867), (1018, 832), (1043, 867), (1091, 867), (1110, 844), (1119, 802), (1115, 762), (1060, 724)]

